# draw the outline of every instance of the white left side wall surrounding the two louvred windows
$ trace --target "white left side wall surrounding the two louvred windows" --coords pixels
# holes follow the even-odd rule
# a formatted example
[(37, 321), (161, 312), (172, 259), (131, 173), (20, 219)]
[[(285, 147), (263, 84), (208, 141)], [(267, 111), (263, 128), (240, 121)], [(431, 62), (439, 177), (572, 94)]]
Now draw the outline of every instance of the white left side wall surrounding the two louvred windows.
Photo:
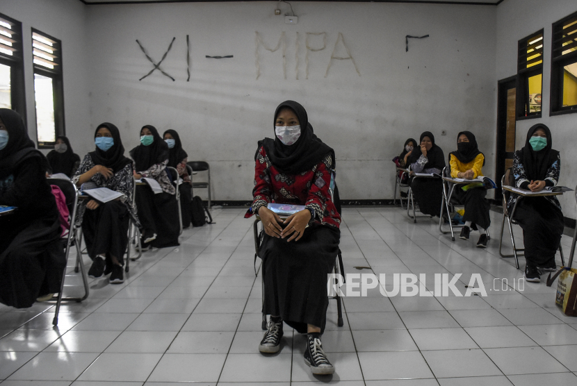
[(86, 6), (78, 0), (3, 0), (0, 12), (22, 22), (26, 119), (31, 139), (36, 140), (31, 31), (35, 28), (62, 41), (65, 129), (75, 151), (86, 148), (86, 138), (77, 135), (88, 126), (90, 110)]

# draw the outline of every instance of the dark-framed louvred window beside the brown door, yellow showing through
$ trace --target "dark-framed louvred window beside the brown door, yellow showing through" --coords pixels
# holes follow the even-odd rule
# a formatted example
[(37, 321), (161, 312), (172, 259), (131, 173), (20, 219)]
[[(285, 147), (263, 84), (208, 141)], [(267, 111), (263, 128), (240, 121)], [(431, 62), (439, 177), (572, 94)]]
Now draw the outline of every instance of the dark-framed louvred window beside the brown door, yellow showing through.
[(541, 117), (543, 30), (519, 40), (517, 119)]

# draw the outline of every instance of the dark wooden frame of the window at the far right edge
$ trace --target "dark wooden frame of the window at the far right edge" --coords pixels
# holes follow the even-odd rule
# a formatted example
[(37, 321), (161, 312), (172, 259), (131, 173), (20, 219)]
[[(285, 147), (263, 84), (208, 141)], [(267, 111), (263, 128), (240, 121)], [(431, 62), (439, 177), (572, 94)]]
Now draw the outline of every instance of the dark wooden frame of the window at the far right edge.
[[(549, 103), (549, 117), (555, 115), (573, 114), (577, 112), (577, 105), (563, 107), (563, 86), (564, 72), (563, 67), (577, 63), (577, 51), (567, 53), (566, 55), (555, 56), (555, 28), (559, 28), (569, 19), (577, 17), (577, 12), (571, 13), (551, 25), (551, 88)], [(577, 24), (574, 24), (577, 25)], [(577, 35), (575, 36), (577, 39)]]

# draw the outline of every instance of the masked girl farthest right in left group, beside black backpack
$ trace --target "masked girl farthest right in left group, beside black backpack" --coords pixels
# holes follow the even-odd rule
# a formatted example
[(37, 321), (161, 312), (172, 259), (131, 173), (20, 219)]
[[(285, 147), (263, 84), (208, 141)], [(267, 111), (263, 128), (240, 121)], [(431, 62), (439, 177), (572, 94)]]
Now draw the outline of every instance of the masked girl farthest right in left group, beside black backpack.
[(167, 130), (163, 134), (164, 141), (168, 144), (168, 165), (177, 169), (179, 177), (182, 178), (183, 183), (179, 185), (180, 190), (180, 209), (182, 215), (182, 227), (188, 228), (191, 221), (193, 200), (193, 181), (188, 176), (186, 170), (186, 162), (188, 162), (188, 154), (182, 149), (180, 136), (174, 130)]

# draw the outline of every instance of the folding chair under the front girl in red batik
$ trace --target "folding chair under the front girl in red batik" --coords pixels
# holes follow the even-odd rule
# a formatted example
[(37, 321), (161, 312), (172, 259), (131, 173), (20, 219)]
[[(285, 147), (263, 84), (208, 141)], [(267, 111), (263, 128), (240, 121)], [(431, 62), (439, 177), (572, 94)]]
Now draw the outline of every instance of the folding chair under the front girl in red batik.
[[(334, 172), (332, 173), (332, 181), (334, 181)], [(339, 212), (339, 215), (341, 214), (341, 203), (340, 203), (340, 199), (339, 199), (339, 193), (338, 193), (338, 189), (336, 188), (336, 185), (334, 185), (334, 189), (330, 189), (330, 193), (331, 193), (331, 197), (332, 200), (335, 204), (336, 210), (337, 212)], [(260, 226), (260, 230), (259, 230), (259, 223), (261, 223)], [(263, 226), (262, 226), (262, 222), (261, 222), (261, 217), (259, 217), (259, 215), (257, 215), (255, 213), (255, 219), (254, 219), (254, 224), (252, 225), (252, 230), (253, 230), (253, 235), (254, 235), (254, 264), (256, 265), (257, 262), (257, 257), (261, 258), (261, 256), (259, 256), (259, 249), (261, 249), (261, 243), (263, 241), (263, 237), (264, 237), (264, 230), (263, 230)], [(261, 258), (262, 260), (262, 258)], [(261, 288), (262, 288), (262, 305), (263, 305), (263, 314), (262, 314), (262, 329), (266, 330), (266, 313), (264, 312), (264, 266), (261, 265), (262, 267), (262, 271), (261, 271)], [(343, 283), (345, 283), (344, 277), (345, 277), (345, 270), (343, 268), (343, 255), (341, 253), (341, 249), (339, 248), (339, 252), (336, 255), (336, 259), (334, 260), (334, 266), (332, 268), (332, 273), (335, 276), (335, 281), (334, 284), (336, 284), (336, 281), (338, 280), (337, 278), (339, 277), (339, 274), (341, 274), (343, 276)], [(257, 268), (254, 267), (254, 274), (257, 274)], [(331, 299), (335, 299), (336, 300), (336, 312), (337, 312), (337, 321), (336, 321), (336, 325), (339, 327), (342, 327), (344, 325), (344, 321), (343, 321), (343, 310), (342, 310), (342, 305), (341, 305), (341, 296), (339, 296), (338, 293), (335, 293), (334, 296), (331, 297)]]

